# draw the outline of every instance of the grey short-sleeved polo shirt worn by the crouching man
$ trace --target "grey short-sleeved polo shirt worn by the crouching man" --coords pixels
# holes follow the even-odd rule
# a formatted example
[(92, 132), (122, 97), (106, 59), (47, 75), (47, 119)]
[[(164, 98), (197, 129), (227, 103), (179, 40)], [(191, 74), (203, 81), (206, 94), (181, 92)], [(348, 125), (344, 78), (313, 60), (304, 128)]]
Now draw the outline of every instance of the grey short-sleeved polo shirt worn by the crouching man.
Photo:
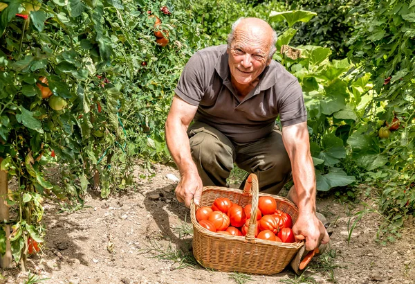
[(297, 78), (275, 60), (240, 101), (230, 81), (226, 48), (223, 44), (198, 51), (183, 69), (175, 91), (198, 106), (194, 121), (215, 127), (237, 143), (257, 141), (272, 132), (277, 116), (283, 127), (307, 121)]

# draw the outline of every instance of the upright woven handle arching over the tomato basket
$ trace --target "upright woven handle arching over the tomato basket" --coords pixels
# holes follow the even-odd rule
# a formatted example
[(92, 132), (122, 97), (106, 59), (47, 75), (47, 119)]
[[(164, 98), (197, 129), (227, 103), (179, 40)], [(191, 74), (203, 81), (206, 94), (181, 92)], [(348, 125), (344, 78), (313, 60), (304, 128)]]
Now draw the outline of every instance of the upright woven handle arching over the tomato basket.
[(252, 193), (252, 207), (251, 207), (251, 218), (249, 221), (248, 232), (246, 233), (245, 239), (247, 241), (255, 240), (255, 231), (257, 229), (257, 208), (258, 208), (258, 195), (259, 195), (259, 183), (257, 175), (250, 174), (246, 179), (246, 184), (243, 187), (244, 194)]

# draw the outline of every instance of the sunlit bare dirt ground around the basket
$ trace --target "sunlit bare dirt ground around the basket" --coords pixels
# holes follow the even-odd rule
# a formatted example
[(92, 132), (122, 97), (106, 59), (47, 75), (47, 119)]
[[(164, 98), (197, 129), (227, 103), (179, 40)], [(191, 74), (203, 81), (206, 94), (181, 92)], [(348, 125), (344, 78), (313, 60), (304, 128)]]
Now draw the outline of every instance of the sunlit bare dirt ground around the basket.
[[(176, 181), (167, 178), (178, 177), (177, 170), (157, 164), (154, 173), (151, 179), (137, 173), (133, 190), (109, 199), (92, 193), (86, 208), (73, 213), (58, 213), (58, 206), (46, 203), (46, 245), (28, 260), (30, 276), (38, 279), (31, 283), (415, 283), (413, 219), (400, 238), (382, 244), (375, 240), (382, 218), (367, 214), (348, 245), (347, 223), (362, 206), (321, 194), (317, 211), (331, 222), (333, 234), (302, 276), (288, 267), (274, 276), (204, 269), (192, 258), (190, 210), (174, 195)], [(0, 283), (28, 283), (17, 267), (0, 272)]]

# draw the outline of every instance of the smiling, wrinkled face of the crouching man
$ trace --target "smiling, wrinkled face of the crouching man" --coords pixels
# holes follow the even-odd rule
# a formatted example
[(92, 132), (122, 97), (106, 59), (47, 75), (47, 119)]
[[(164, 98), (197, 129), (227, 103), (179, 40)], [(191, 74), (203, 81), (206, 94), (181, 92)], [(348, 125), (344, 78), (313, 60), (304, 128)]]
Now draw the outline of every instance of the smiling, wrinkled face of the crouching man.
[(270, 64), (269, 52), (269, 35), (253, 35), (246, 30), (235, 30), (234, 40), (228, 48), (232, 79), (240, 85), (254, 82)]

